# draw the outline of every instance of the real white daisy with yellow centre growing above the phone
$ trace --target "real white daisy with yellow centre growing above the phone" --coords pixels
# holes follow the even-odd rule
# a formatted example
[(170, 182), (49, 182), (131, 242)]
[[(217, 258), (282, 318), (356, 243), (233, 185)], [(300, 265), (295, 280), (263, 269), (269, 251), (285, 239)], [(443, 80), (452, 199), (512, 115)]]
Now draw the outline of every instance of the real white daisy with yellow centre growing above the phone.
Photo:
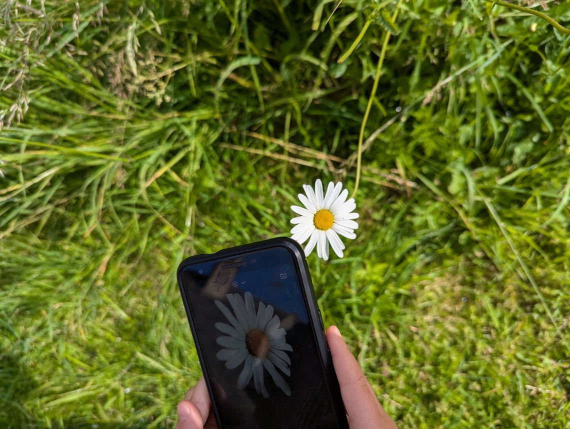
[(328, 260), (328, 243), (331, 243), (332, 250), (342, 258), (344, 244), (339, 235), (356, 238), (354, 230), (358, 224), (352, 219), (358, 218), (359, 214), (353, 213), (356, 209), (354, 198), (347, 201), (348, 189), (341, 192), (343, 184), (340, 182), (336, 185), (329, 183), (324, 197), (320, 179), (315, 182), (315, 190), (309, 185), (303, 185), (303, 189), (307, 196), (299, 194), (299, 199), (305, 207), (291, 206), (291, 210), (300, 215), (291, 219), (291, 223), (296, 223), (291, 230), (291, 238), (299, 244), (309, 239), (305, 246), (307, 256), (316, 246), (319, 258)]

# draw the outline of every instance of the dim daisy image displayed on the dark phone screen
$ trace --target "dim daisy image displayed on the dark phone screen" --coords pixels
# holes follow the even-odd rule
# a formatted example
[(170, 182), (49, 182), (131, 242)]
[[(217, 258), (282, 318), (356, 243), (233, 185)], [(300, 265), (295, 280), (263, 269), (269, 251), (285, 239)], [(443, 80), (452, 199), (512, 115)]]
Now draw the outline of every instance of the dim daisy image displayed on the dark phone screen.
[(245, 293), (245, 301), (238, 293), (229, 293), (226, 298), (233, 312), (221, 301), (214, 301), (229, 321), (229, 324), (215, 324), (216, 329), (226, 334), (216, 339), (218, 345), (223, 347), (216, 357), (226, 362), (227, 369), (235, 369), (243, 363), (238, 377), (239, 389), (245, 389), (253, 377), (255, 391), (268, 398), (264, 383), (264, 371), (267, 371), (275, 385), (291, 396), (291, 389), (278, 372), (291, 375), (291, 359), (286, 352), (293, 350), (285, 341), (285, 330), (280, 328), (279, 316), (273, 314), (271, 305), (262, 302), (259, 302), (256, 312), (250, 292)]

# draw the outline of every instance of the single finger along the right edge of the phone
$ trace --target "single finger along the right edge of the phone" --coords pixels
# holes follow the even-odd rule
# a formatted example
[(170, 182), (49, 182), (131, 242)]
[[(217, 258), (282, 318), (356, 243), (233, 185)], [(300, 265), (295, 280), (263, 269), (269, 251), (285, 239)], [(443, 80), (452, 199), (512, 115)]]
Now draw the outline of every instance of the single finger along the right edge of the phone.
[(327, 329), (327, 342), (351, 429), (397, 429), (336, 326)]

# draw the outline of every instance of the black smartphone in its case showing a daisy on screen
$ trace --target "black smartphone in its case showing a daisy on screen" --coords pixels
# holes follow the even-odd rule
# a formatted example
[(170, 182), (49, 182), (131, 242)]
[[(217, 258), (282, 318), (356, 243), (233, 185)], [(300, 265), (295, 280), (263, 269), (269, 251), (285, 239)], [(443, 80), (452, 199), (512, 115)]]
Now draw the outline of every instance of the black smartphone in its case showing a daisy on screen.
[(192, 256), (177, 277), (219, 429), (348, 429), (297, 242)]

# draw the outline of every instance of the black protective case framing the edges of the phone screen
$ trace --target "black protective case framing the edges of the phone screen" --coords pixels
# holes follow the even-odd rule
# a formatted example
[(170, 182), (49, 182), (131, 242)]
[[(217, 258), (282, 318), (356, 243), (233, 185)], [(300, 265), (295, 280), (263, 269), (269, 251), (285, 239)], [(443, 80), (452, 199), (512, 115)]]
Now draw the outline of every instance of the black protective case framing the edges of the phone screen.
[[(209, 375), (207, 374), (207, 369), (205, 365), (205, 356), (203, 354), (200, 342), (198, 341), (198, 336), (196, 333), (196, 327), (194, 326), (194, 319), (192, 317), (192, 312), (190, 312), (190, 306), (186, 299), (186, 293), (184, 291), (184, 285), (182, 284), (182, 271), (185, 267), (189, 265), (194, 265), (202, 262), (210, 262), (217, 259), (225, 259), (231, 256), (238, 256), (246, 254), (252, 251), (260, 251), (264, 249), (270, 249), (275, 247), (286, 248), (293, 257), (295, 262), (295, 268), (297, 270), (299, 281), (301, 284), (301, 289), (303, 293), (303, 298), (305, 300), (305, 306), (311, 322), (312, 331), (315, 338), (315, 343), (317, 350), (319, 351), (319, 357), (321, 361), (321, 366), (323, 367), (323, 373), (325, 375), (325, 383), (328, 389), (329, 398), (331, 398), (333, 409), (336, 411), (337, 422), (339, 422), (340, 429), (348, 429), (348, 421), (345, 414), (343, 399), (340, 394), (339, 381), (336, 378), (335, 369), (332, 364), (331, 351), (328, 348), (327, 337), (324, 332), (323, 318), (321, 317), (319, 305), (317, 304), (315, 289), (311, 281), (311, 275), (307, 266), (307, 260), (305, 259), (305, 254), (303, 248), (295, 240), (288, 237), (272, 238), (269, 240), (264, 240), (262, 242), (244, 244), (243, 246), (231, 247), (216, 252), (215, 254), (203, 254), (190, 256), (183, 260), (178, 266), (177, 279), (178, 286), (180, 287), (180, 293), (182, 295), (182, 301), (184, 301), (184, 308), (186, 310), (186, 316), (190, 322), (190, 329), (192, 330), (192, 337), (194, 338), (194, 344), (196, 345), (196, 350), (198, 352), (198, 359), (200, 359), (200, 365), (202, 367), (202, 372), (208, 387), (210, 394), (210, 399), (212, 402), (212, 408), (214, 410), (214, 415), (216, 422), (218, 423), (219, 429), (223, 429), (221, 420), (219, 418), (219, 412), (217, 406), (214, 402), (213, 389), (210, 383)], [(294, 429), (294, 428), (291, 428)], [(335, 428), (336, 429), (336, 428)]]

